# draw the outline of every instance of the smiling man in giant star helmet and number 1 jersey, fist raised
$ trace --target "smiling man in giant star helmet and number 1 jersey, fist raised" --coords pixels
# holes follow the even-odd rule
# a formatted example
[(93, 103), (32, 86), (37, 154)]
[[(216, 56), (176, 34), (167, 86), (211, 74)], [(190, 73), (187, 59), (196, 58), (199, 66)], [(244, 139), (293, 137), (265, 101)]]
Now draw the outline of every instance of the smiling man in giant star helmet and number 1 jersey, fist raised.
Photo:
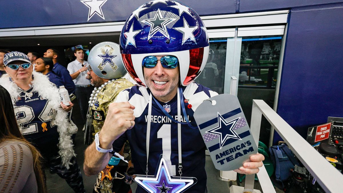
[[(120, 49), (126, 70), (140, 86), (122, 91), (110, 105), (98, 143), (86, 149), (85, 173), (102, 170), (110, 157), (102, 152), (112, 146), (119, 151), (128, 140), (136, 174), (154, 175), (163, 154), (170, 175), (197, 178), (187, 192), (206, 192), (205, 144), (193, 113), (217, 93), (193, 82), (209, 53), (200, 16), (177, 1), (147, 2), (124, 24)], [(253, 155), (236, 171), (257, 173), (263, 159)], [(138, 186), (136, 192), (146, 191)]]

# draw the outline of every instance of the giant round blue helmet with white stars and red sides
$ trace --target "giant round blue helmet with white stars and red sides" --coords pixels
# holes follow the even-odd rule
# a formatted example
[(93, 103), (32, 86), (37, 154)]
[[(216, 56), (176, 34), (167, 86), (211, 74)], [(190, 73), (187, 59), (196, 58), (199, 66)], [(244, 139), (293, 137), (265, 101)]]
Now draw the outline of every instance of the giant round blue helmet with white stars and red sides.
[(176, 56), (180, 83), (187, 86), (205, 67), (209, 38), (193, 9), (178, 1), (154, 0), (141, 5), (126, 20), (120, 33), (120, 52), (126, 70), (142, 86), (144, 57)]

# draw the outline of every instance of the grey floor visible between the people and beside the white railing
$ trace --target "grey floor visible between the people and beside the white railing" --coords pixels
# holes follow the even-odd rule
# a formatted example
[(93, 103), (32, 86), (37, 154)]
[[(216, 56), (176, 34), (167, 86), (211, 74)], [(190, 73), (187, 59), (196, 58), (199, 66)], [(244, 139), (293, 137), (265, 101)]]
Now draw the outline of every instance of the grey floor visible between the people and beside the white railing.
[[(74, 102), (73, 107), (73, 120), (76, 125), (79, 127), (79, 132), (76, 134), (75, 138), (75, 153), (78, 164), (80, 166), (82, 177), (83, 177), (83, 183), (85, 185), (85, 189), (87, 192), (92, 192), (96, 175), (93, 175), (91, 177), (87, 177), (83, 172), (83, 160), (84, 160), (84, 150), (87, 146), (83, 145), (83, 131), (82, 131), (82, 125), (80, 124), (80, 113), (79, 107), (77, 105), (77, 102)], [(209, 193), (228, 193), (229, 192), (229, 182), (223, 181), (220, 178), (220, 172), (215, 169), (212, 160), (210, 156), (206, 156), (206, 173), (207, 173), (207, 188)], [(67, 182), (63, 179), (61, 179), (57, 174), (50, 174), (48, 170), (45, 171), (47, 175), (47, 188), (49, 193), (72, 193), (73, 190), (68, 186)], [(236, 181), (231, 181), (231, 184), (237, 185)], [(244, 186), (244, 182), (242, 183), (242, 186)], [(131, 185), (132, 191), (135, 192), (135, 189), (137, 187), (136, 183), (133, 183)], [(261, 190), (259, 183), (256, 181), (255, 183), (255, 189)], [(283, 192), (281, 190), (277, 190), (277, 193)]]

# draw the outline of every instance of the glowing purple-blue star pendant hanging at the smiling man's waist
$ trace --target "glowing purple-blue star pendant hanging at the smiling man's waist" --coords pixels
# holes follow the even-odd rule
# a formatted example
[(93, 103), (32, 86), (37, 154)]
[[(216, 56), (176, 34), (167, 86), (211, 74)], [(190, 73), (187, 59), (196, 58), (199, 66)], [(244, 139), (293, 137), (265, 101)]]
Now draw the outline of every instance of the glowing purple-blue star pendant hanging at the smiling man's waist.
[(180, 193), (197, 183), (196, 178), (171, 177), (166, 166), (161, 155), (155, 176), (136, 175), (134, 181), (150, 193)]

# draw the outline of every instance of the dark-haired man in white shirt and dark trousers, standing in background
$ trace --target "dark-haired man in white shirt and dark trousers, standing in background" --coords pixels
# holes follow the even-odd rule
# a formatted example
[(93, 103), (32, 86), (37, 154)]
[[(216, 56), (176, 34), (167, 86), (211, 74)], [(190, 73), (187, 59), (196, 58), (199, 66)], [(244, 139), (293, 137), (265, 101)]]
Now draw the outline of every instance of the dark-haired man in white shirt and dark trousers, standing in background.
[(83, 124), (86, 120), (88, 110), (88, 100), (93, 91), (90, 76), (87, 75), (87, 61), (84, 60), (84, 51), (81, 48), (76, 48), (74, 51), (76, 60), (68, 64), (68, 71), (75, 83), (75, 95), (80, 105), (81, 117)]

